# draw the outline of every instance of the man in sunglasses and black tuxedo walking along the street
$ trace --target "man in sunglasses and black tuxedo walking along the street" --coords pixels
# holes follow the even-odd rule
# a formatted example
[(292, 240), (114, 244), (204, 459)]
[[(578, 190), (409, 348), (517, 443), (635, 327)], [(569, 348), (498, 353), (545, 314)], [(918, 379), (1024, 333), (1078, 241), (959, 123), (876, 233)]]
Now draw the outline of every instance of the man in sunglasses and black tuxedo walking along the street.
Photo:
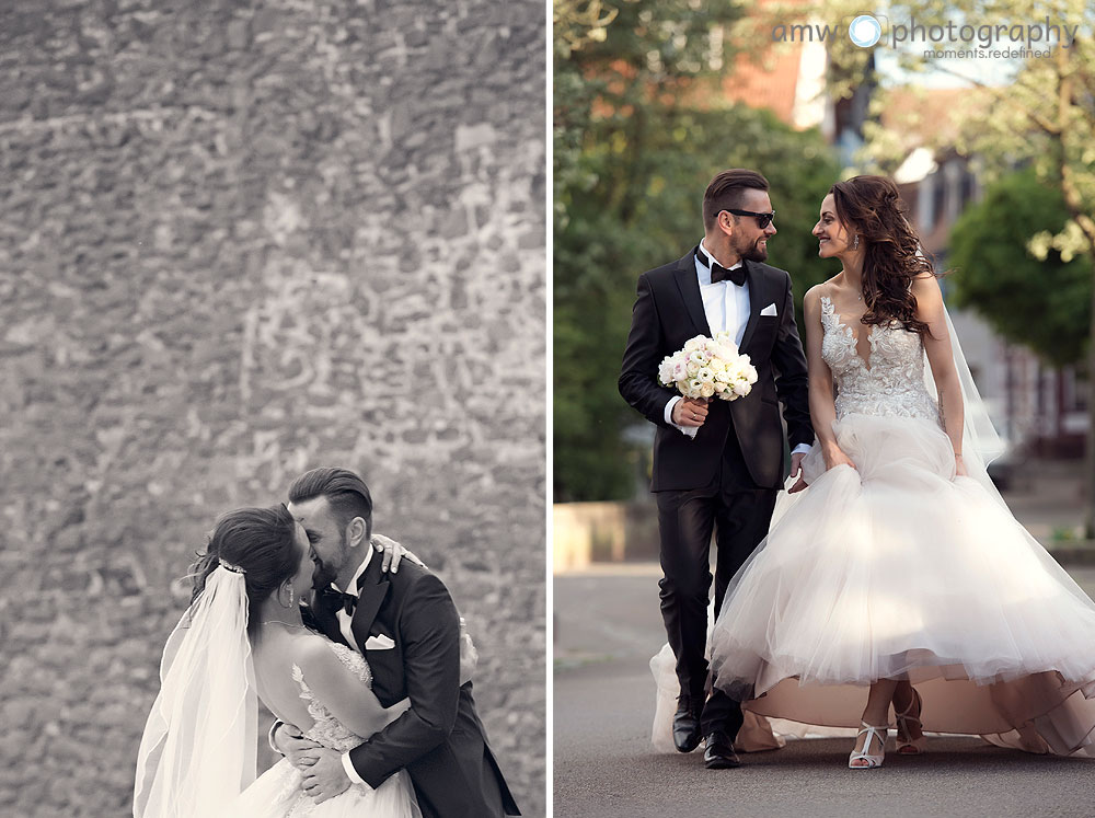
[[(705, 738), (711, 769), (738, 767), (734, 740), (742, 723), (739, 702), (717, 688), (706, 695), (712, 529), (717, 612), (730, 577), (768, 533), (783, 482), (780, 402), (793, 474), (814, 440), (791, 277), (763, 264), (776, 232), (768, 189), (756, 171), (723, 171), (711, 181), (703, 241), (639, 276), (619, 384), (624, 400), (658, 427), (650, 489), (661, 538), (661, 617), (681, 685), (673, 742), (691, 752)], [(708, 403), (658, 383), (662, 358), (695, 335), (724, 330), (757, 368), (747, 396)]]

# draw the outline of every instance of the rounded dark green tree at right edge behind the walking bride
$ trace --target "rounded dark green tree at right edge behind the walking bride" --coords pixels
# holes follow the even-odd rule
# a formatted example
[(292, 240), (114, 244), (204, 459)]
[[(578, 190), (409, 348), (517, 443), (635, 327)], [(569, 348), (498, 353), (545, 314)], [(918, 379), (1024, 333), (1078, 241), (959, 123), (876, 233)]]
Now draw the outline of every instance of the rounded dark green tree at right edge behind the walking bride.
[(1001, 335), (1033, 348), (1053, 366), (1080, 362), (1091, 322), (1091, 263), (1064, 262), (1050, 249), (1029, 251), (1041, 231), (1069, 220), (1061, 192), (1028, 169), (1002, 177), (970, 207), (950, 234), (949, 279), (959, 304), (981, 313)]

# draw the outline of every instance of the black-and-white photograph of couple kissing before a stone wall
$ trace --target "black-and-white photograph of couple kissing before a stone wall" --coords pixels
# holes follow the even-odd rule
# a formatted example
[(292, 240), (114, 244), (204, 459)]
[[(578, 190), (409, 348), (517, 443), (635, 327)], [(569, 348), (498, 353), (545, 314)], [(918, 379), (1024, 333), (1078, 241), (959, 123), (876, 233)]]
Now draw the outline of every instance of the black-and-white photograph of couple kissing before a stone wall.
[(546, 21), (0, 9), (0, 813), (546, 814)]

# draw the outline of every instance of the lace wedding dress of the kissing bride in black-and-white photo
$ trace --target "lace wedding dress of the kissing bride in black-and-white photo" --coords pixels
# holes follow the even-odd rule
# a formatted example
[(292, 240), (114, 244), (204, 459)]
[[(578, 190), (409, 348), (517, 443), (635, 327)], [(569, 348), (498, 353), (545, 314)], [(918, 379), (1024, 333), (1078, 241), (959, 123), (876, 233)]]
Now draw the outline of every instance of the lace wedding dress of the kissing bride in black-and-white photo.
[[(337, 643), (331, 643), (331, 649), (362, 684), (372, 687), (372, 673), (364, 656)], [(306, 738), (338, 752), (346, 752), (365, 740), (344, 727), (314, 696), (297, 665), (292, 666), (292, 678), (314, 722), (304, 733)], [(377, 790), (351, 784), (349, 790), (322, 804), (315, 804), (306, 795), (300, 783), (300, 772), (281, 759), (258, 776), (227, 814), (241, 818), (422, 818), (406, 771), (395, 773)]]

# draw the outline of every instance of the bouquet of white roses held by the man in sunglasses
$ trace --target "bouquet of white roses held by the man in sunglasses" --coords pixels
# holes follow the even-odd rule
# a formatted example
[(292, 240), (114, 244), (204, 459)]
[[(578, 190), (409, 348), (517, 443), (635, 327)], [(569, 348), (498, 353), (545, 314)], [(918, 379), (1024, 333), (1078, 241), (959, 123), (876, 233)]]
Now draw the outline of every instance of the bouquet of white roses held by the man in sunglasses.
[(685, 398), (721, 398), (734, 401), (749, 394), (757, 382), (757, 368), (748, 355), (738, 353), (728, 332), (714, 338), (696, 335), (684, 348), (658, 367), (658, 381), (675, 387)]

